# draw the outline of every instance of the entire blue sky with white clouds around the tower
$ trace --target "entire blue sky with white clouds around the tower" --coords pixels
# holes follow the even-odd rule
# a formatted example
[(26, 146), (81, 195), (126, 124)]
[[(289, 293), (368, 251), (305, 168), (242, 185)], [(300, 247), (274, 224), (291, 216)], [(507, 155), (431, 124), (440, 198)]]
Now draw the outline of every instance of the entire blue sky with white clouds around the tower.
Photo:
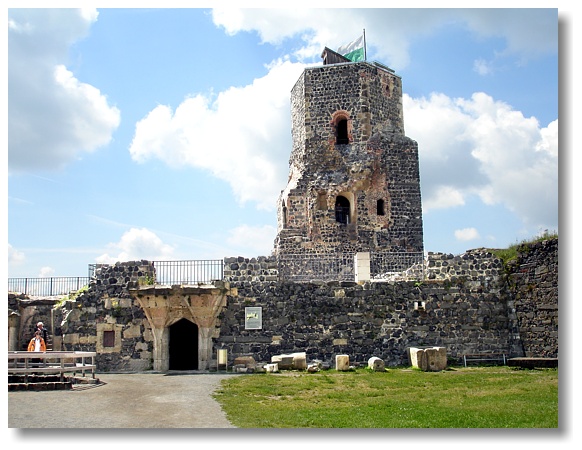
[(7, 16), (10, 277), (270, 254), (291, 88), (363, 29), (402, 77), (425, 250), (558, 230), (557, 9)]

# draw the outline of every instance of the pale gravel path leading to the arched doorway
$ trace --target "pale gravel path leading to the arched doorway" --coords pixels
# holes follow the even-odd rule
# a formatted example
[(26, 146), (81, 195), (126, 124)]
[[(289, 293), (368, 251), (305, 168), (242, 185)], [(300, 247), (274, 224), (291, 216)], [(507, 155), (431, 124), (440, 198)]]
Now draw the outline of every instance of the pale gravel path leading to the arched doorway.
[(235, 375), (97, 374), (99, 385), (8, 392), (9, 428), (234, 428), (212, 393)]

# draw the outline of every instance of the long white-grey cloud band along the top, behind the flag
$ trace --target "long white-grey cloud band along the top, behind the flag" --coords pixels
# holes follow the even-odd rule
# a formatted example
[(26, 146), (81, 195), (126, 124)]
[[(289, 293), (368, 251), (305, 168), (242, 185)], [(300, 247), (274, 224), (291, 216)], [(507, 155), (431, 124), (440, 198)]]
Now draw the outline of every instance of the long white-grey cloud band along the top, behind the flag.
[(504, 55), (525, 60), (558, 50), (557, 10), (551, 15), (547, 10), (525, 8), (236, 9), (229, 6), (213, 9), (212, 16), (214, 23), (228, 34), (256, 31), (264, 42), (275, 45), (300, 35), (305, 44), (295, 55), (306, 58), (318, 58), (324, 46), (336, 49), (350, 42), (365, 28), (373, 58), (396, 70), (408, 65), (408, 49), (414, 41), (454, 25), (468, 29), (477, 39), (503, 39), (505, 46), (495, 55), (483, 55), (483, 63)]

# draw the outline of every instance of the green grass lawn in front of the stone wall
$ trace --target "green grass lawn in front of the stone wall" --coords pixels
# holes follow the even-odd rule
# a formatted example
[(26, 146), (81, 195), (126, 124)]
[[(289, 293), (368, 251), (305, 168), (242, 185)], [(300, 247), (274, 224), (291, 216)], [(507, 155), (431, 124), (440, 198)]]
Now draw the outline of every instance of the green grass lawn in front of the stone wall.
[(215, 393), (239, 428), (557, 428), (558, 369), (284, 371)]

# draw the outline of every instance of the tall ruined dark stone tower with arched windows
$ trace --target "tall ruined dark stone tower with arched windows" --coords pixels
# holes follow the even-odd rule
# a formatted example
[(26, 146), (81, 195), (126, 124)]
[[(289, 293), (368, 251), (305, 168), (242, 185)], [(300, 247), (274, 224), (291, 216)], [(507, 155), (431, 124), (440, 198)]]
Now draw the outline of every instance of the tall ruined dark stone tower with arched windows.
[(418, 145), (404, 135), (401, 78), (327, 48), (322, 57), (291, 91), (274, 254), (422, 253)]

